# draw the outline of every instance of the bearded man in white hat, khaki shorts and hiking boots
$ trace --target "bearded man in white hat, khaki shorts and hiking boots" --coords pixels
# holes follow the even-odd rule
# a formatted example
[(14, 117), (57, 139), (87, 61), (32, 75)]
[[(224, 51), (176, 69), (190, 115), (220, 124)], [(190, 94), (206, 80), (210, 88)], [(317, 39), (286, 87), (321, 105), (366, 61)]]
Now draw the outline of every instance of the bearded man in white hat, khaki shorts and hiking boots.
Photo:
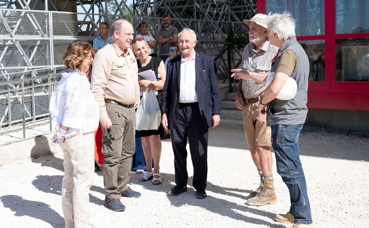
[(266, 205), (277, 202), (272, 174), (273, 157), (270, 152), (271, 129), (266, 115), (258, 112), (259, 100), (265, 90), (264, 79), (270, 73), (272, 59), (278, 48), (269, 43), (265, 14), (243, 20), (249, 27), (249, 40), (242, 53), (242, 69), (231, 70), (232, 77), (240, 79), (236, 91), (236, 106), (242, 110), (243, 128), (247, 146), (260, 175), (257, 190), (250, 193), (248, 205)]

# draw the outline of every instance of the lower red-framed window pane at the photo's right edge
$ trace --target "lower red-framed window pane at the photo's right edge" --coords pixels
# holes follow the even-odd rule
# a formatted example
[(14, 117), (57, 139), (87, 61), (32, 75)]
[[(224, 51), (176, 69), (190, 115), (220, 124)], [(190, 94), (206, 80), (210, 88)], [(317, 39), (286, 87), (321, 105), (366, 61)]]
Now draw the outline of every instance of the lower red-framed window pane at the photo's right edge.
[(369, 81), (369, 38), (336, 39), (336, 81)]

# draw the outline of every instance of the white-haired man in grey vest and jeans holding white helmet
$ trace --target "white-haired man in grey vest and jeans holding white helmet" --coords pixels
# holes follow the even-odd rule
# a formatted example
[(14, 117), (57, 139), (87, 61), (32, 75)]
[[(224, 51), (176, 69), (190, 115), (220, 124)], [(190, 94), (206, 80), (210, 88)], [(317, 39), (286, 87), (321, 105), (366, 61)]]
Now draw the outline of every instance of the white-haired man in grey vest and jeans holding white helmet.
[[(295, 20), (290, 13), (272, 14), (266, 21), (269, 41), (279, 51), (272, 63), (274, 79), (265, 89), (258, 109), (260, 113), (267, 113), (277, 172), (288, 187), (291, 201), (290, 210), (286, 214), (277, 214), (275, 219), (294, 223), (293, 228), (314, 228), (298, 142), (308, 113), (309, 59), (296, 41)], [(289, 77), (296, 81), (296, 95), (288, 101), (279, 100), (277, 94)]]

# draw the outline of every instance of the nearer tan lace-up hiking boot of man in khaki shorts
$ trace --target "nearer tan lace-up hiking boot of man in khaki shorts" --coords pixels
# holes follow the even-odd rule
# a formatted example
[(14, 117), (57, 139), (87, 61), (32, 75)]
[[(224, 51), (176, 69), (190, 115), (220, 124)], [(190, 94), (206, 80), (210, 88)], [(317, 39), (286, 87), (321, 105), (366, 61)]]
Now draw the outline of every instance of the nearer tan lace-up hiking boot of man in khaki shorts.
[(260, 192), (256, 194), (255, 197), (247, 200), (247, 205), (253, 206), (262, 206), (266, 204), (272, 204), (277, 202), (277, 196), (274, 192), (274, 178), (269, 177), (264, 179), (261, 177), (263, 182), (263, 186), (260, 189)]

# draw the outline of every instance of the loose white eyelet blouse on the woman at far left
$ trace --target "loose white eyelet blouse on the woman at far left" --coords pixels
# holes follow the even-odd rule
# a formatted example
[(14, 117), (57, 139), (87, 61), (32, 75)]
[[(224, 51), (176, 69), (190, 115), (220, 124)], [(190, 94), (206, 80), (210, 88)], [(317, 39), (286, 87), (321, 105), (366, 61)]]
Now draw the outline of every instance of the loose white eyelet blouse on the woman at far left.
[(84, 73), (63, 70), (50, 99), (49, 111), (53, 125), (69, 127), (70, 136), (95, 131), (99, 124), (99, 108), (92, 95), (91, 85)]

